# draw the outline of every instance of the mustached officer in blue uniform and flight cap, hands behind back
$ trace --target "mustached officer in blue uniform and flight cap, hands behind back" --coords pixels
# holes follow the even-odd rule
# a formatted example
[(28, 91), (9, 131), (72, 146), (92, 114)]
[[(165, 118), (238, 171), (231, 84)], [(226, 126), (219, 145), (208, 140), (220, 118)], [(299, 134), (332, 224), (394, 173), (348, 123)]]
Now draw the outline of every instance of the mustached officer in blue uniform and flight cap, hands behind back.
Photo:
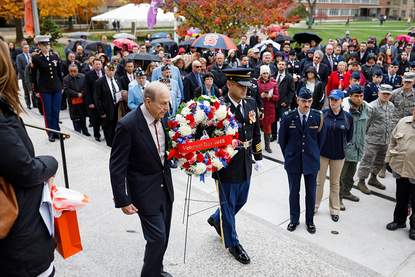
[(301, 175), (304, 175), (305, 223), (307, 231), (314, 234), (317, 173), (320, 170), (320, 150), (326, 137), (326, 126), (323, 113), (310, 108), (313, 94), (306, 87), (301, 88), (297, 104), (297, 109), (283, 114), (278, 133), (289, 184), (291, 222), (287, 230), (294, 231), (300, 223), (300, 183)]

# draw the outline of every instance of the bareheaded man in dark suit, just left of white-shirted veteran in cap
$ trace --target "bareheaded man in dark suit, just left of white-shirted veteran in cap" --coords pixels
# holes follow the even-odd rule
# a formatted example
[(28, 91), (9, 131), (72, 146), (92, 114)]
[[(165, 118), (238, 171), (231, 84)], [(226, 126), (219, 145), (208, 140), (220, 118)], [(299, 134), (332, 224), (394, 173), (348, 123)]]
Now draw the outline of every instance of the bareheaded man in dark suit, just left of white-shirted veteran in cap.
[(100, 142), (101, 134), (99, 133), (99, 129), (102, 121), (95, 107), (94, 85), (95, 81), (101, 78), (105, 72), (102, 70), (102, 61), (99, 58), (95, 58), (93, 65), (94, 69), (85, 74), (85, 98), (90, 108), (90, 118), (94, 128), (95, 141)]

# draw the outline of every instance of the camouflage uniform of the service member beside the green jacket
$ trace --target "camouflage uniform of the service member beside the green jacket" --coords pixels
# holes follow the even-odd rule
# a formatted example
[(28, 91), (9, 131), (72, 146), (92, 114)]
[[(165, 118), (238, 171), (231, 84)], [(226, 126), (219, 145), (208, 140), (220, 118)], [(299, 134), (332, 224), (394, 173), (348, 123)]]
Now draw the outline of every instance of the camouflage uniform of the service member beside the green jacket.
[(366, 145), (358, 170), (359, 179), (367, 179), (369, 173), (377, 175), (382, 169), (395, 115), (394, 105), (389, 101), (386, 111), (379, 98), (370, 105), (365, 136)]

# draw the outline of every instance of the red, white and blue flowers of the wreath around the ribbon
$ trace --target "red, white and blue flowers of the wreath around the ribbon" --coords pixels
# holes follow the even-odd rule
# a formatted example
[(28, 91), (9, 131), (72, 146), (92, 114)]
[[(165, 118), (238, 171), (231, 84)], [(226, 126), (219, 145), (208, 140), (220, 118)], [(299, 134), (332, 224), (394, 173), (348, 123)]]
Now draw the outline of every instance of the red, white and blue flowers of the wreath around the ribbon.
[[(238, 152), (238, 127), (242, 127), (231, 112), (231, 104), (219, 101), (215, 96), (202, 95), (196, 101), (182, 103), (175, 117), (169, 118), (169, 127), (166, 128), (170, 151), (176, 148), (172, 157), (175, 165), (184, 169), (189, 175), (204, 176), (226, 167), (232, 157)], [(232, 143), (211, 149), (180, 153), (177, 144), (194, 142), (193, 137), (198, 126), (216, 127), (211, 138), (232, 135)]]

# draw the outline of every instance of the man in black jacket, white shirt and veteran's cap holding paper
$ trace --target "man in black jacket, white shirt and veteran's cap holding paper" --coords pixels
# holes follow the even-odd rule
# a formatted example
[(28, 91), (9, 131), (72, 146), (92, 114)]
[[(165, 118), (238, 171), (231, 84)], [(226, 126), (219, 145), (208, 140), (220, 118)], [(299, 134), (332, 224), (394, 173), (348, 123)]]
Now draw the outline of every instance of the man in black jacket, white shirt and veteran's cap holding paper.
[(121, 81), (118, 76), (115, 76), (115, 65), (108, 63), (104, 70), (105, 75), (94, 84), (94, 101), (98, 114), (102, 118), (105, 141), (107, 146), (112, 147), (115, 126), (118, 122), (118, 102), (124, 100), (120, 93)]

